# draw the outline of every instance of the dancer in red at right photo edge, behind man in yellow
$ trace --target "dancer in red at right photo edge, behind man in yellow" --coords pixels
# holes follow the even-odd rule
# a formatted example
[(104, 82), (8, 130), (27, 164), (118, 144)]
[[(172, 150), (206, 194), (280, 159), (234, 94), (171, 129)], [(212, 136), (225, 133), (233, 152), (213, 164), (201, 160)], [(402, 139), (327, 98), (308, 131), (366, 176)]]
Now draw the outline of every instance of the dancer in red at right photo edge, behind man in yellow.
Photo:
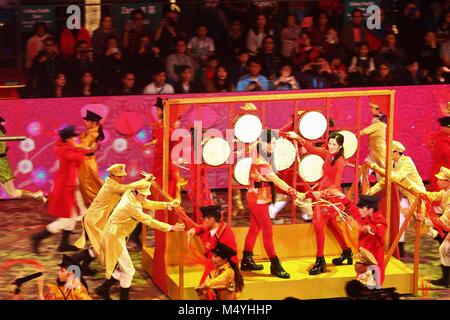
[(435, 173), (442, 167), (450, 168), (450, 116), (439, 118), (441, 127), (432, 140), (433, 164), (430, 168), (430, 191), (439, 191)]

